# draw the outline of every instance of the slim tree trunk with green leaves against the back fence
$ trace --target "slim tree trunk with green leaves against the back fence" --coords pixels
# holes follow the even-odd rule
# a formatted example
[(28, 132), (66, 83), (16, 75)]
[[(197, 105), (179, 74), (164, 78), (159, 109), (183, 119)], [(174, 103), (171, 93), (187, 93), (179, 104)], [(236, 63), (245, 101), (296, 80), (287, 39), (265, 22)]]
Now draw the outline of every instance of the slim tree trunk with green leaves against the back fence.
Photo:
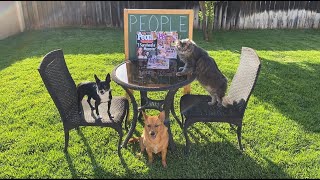
[(214, 1), (199, 1), (199, 18), (202, 21), (203, 38), (206, 41), (212, 40), (213, 20), (214, 20)]

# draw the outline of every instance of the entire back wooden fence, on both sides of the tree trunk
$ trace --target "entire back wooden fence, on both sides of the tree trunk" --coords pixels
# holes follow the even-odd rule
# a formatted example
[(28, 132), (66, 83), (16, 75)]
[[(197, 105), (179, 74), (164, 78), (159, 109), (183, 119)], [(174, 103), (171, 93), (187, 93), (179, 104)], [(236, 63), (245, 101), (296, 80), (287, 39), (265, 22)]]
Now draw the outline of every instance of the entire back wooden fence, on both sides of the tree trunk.
[[(25, 29), (123, 27), (123, 9), (194, 9), (197, 1), (21, 1)], [(320, 28), (319, 1), (216, 1), (215, 30)]]

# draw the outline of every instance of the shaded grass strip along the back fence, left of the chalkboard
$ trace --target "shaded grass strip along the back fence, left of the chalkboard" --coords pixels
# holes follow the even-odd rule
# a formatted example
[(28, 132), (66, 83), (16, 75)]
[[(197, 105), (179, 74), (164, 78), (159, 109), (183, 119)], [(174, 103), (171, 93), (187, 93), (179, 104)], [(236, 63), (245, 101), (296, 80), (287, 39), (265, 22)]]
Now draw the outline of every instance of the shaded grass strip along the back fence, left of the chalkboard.
[(123, 33), (117, 29), (59, 28), (27, 31), (0, 40), (0, 70), (55, 49), (64, 54), (124, 53)]

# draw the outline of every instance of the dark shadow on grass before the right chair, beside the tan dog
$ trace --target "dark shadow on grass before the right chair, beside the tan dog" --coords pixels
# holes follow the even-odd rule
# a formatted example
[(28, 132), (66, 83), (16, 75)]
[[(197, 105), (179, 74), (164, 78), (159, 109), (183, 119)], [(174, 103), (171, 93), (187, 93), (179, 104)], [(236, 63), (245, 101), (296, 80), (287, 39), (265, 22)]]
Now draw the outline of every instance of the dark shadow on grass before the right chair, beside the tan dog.
[[(191, 143), (188, 156), (183, 154), (184, 145), (177, 145), (177, 150), (167, 154), (167, 165), (161, 165), (161, 156), (154, 155), (153, 164), (143, 177), (137, 178), (178, 178), (178, 179), (273, 179), (290, 178), (271, 160), (262, 157), (264, 166), (256, 162), (245, 152), (240, 152), (229, 142), (198, 144)], [(147, 155), (143, 158), (147, 162)]]

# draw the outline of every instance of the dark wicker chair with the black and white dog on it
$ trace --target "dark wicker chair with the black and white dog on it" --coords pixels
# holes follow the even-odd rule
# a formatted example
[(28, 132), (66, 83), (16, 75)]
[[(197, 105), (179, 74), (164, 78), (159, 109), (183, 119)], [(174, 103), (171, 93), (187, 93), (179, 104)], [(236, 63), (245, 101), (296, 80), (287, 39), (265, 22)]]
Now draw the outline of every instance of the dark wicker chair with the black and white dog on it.
[(46, 54), (38, 71), (63, 122), (64, 151), (67, 152), (71, 129), (79, 130), (80, 126), (100, 126), (111, 127), (118, 132), (118, 154), (120, 155), (123, 137), (122, 122), (124, 118), (127, 120), (129, 113), (128, 100), (125, 97), (113, 97), (110, 108), (114, 116), (113, 120), (110, 120), (107, 114), (107, 103), (100, 104), (99, 110), (103, 119), (98, 119), (85, 99), (82, 101), (83, 111), (79, 114), (76, 84), (69, 73), (62, 50), (58, 49)]

